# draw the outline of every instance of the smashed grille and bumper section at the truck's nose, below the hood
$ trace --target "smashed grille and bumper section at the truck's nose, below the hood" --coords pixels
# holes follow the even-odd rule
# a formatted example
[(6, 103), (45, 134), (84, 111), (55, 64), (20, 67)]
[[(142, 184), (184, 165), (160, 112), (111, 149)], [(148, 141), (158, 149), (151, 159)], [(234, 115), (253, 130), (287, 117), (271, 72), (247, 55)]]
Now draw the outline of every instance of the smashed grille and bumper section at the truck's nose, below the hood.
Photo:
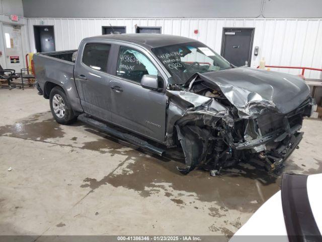
[[(257, 118), (242, 119), (243, 128), (237, 125), (237, 129), (240, 132), (244, 131), (243, 135), (227, 134), (228, 144), (234, 150), (247, 152), (248, 159), (255, 158), (263, 161), (266, 169), (273, 171), (298, 147), (303, 136), (303, 132), (299, 132), (303, 117), (309, 116), (310, 111), (310, 98), (308, 98), (298, 108), (287, 114), (272, 112)], [(231, 133), (232, 130), (226, 129), (226, 132)]]

